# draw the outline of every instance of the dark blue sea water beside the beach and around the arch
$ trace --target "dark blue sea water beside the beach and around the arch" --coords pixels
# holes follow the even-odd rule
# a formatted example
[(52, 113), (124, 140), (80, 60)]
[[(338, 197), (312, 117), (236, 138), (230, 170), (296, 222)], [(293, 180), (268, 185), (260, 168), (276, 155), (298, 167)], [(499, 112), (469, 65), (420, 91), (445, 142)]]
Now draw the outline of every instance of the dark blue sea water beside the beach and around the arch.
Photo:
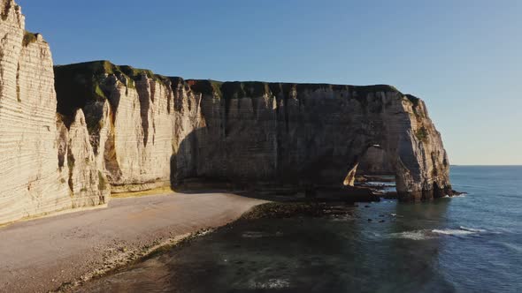
[(469, 194), (238, 222), (81, 290), (522, 292), (522, 167), (455, 166), (451, 179)]

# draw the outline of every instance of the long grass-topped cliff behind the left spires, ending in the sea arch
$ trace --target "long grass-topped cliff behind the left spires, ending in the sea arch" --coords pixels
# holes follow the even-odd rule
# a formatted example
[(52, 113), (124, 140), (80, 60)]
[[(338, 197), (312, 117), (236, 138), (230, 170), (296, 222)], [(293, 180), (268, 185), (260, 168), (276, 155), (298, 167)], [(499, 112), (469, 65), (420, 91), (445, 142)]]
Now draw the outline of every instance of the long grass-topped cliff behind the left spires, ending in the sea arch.
[(353, 184), (345, 179), (359, 163), (378, 162), (374, 169), (396, 175), (403, 200), (451, 193), (447, 154), (426, 105), (393, 86), (183, 80), (108, 61), (55, 73), (58, 111), (85, 111), (116, 191), (196, 177), (342, 186)]

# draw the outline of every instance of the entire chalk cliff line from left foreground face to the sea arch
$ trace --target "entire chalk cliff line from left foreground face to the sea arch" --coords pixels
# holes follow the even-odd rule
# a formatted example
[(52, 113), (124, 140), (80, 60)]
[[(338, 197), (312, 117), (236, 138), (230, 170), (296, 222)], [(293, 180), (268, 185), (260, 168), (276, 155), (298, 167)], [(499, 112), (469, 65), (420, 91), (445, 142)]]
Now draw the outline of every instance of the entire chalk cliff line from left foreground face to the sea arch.
[(184, 80), (107, 61), (53, 70), (19, 6), (0, 10), (0, 223), (193, 178), (309, 190), (385, 172), (400, 199), (451, 194), (425, 103), (393, 86)]

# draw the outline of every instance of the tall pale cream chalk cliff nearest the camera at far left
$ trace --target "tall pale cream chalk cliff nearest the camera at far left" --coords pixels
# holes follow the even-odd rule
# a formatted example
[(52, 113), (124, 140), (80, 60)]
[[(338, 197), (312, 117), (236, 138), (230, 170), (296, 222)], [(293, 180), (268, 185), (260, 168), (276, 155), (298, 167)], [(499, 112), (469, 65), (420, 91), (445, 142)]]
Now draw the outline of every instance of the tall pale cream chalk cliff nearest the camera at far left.
[[(12, 0), (0, 2), (0, 223), (78, 206), (59, 168), (50, 48), (25, 32)], [(90, 204), (89, 204), (90, 205)]]

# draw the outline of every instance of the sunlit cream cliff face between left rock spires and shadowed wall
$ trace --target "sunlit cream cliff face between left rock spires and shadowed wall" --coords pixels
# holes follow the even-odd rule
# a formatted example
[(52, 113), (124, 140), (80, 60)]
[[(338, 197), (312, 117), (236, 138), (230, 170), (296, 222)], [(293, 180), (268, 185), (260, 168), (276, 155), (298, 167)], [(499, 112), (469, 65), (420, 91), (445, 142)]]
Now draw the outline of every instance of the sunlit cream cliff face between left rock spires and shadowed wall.
[[(140, 191), (170, 185), (171, 156), (177, 142), (193, 131), (198, 119), (191, 119), (187, 89), (173, 86), (172, 80), (108, 76), (104, 90), (111, 101), (113, 122), (109, 125), (104, 149), (104, 165), (112, 192)], [(122, 82), (123, 81), (123, 82)], [(174, 110), (176, 95), (179, 99)]]

